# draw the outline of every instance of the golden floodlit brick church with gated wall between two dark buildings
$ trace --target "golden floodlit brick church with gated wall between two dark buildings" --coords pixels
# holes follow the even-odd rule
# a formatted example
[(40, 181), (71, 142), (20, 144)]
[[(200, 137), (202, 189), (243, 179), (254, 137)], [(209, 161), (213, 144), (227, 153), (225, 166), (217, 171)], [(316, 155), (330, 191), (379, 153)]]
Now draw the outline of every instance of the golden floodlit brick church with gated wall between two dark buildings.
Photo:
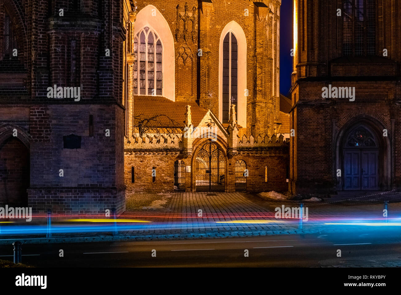
[(126, 50), (127, 194), (288, 190), (281, 2), (211, 2), (136, 2)]

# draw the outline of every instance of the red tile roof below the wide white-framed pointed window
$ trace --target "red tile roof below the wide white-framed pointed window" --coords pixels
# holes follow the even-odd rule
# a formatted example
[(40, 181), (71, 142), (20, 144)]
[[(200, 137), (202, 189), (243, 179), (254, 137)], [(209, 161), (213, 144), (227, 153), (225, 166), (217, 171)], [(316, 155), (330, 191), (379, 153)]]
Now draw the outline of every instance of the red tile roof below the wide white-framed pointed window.
[(198, 126), (207, 110), (198, 106), (196, 102), (173, 102), (162, 96), (134, 96), (134, 124), (137, 123), (135, 117), (143, 120), (158, 116), (152, 124), (154, 127), (183, 128), (188, 104), (191, 106), (192, 124)]

